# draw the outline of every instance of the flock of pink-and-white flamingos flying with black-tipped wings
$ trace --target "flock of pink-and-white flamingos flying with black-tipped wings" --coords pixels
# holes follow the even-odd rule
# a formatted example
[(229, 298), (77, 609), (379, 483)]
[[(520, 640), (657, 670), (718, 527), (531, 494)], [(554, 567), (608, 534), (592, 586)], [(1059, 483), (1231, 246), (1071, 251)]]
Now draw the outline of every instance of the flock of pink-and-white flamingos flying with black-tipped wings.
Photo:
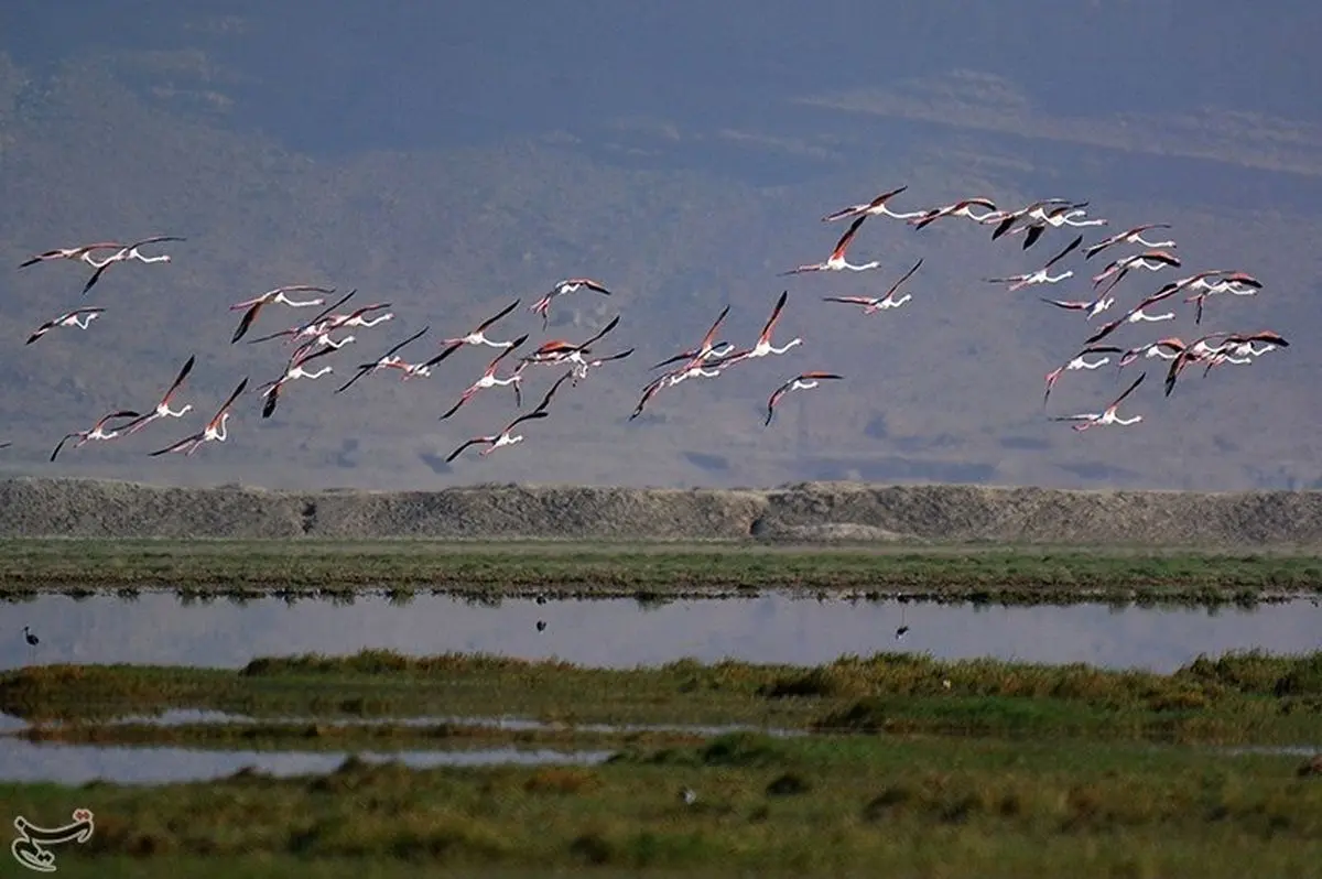
[[(838, 237), (829, 256), (821, 262), (795, 266), (779, 272), (779, 276), (788, 278), (839, 271), (870, 272), (882, 268), (880, 260), (873, 259), (851, 263), (847, 259), (849, 250), (859, 242), (859, 231), (870, 219), (873, 225), (887, 221), (903, 223), (911, 229), (910, 234), (920, 234), (937, 222), (964, 222), (973, 230), (990, 229), (992, 241), (1018, 239), (1021, 242), (1019, 250), (1023, 251), (1032, 248), (1039, 241), (1051, 237), (1054, 230), (1072, 231), (1075, 229), (1104, 227), (1109, 225), (1107, 219), (1088, 214), (1087, 201), (1071, 201), (1066, 198), (1044, 198), (1006, 210), (988, 197), (972, 196), (949, 205), (916, 208), (908, 211), (892, 210), (890, 206), (892, 200), (906, 194), (908, 186), (898, 186), (883, 192), (870, 201), (858, 202), (822, 217), (821, 222), (825, 223), (849, 221), (845, 233)], [(871, 227), (869, 226), (869, 229)], [(1027, 287), (1060, 284), (1075, 278), (1076, 270), (1081, 270), (1083, 264), (1087, 264), (1088, 260), (1099, 254), (1108, 252), (1114, 255), (1114, 259), (1091, 275), (1092, 292), (1085, 295), (1087, 297), (1039, 297), (1040, 301), (1056, 309), (1080, 313), (1083, 323), (1088, 326), (1087, 337), (1073, 348), (1072, 353), (1059, 366), (1047, 373), (1043, 406), (1048, 403), (1051, 391), (1056, 383), (1069, 373), (1097, 371), (1104, 366), (1114, 363), (1114, 374), (1118, 375), (1130, 363), (1140, 360), (1155, 360), (1166, 367), (1163, 391), (1169, 397), (1174, 391), (1179, 378), (1191, 366), (1200, 365), (1203, 367), (1202, 374), (1207, 375), (1214, 367), (1251, 365), (1269, 352), (1289, 346), (1289, 342), (1280, 333), (1268, 329), (1241, 332), (1218, 330), (1202, 334), (1190, 342), (1178, 336), (1165, 336), (1128, 346), (1112, 341), (1110, 337), (1126, 325), (1174, 320), (1177, 317), (1175, 311), (1169, 311), (1171, 303), (1182, 301), (1192, 305), (1195, 324), (1200, 325), (1207, 304), (1215, 297), (1252, 297), (1257, 296), (1263, 289), (1264, 286), (1259, 279), (1237, 268), (1202, 270), (1162, 284), (1157, 291), (1137, 297), (1129, 307), (1117, 307), (1118, 296), (1116, 291), (1124, 280), (1146, 278), (1149, 274), (1163, 278), (1174, 274), (1175, 270), (1183, 266), (1182, 259), (1177, 255), (1177, 242), (1165, 238), (1157, 241), (1155, 238), (1159, 235), (1153, 234), (1155, 230), (1165, 233), (1170, 227), (1169, 223), (1144, 223), (1104, 237), (1091, 245), (1084, 243), (1084, 233), (1076, 233), (1068, 243), (1056, 250), (1040, 264), (1017, 275), (986, 279), (988, 283), (1005, 286), (1007, 293), (1014, 293)], [(82, 288), (82, 293), (87, 295), (93, 288), (99, 288), (98, 283), (112, 266), (127, 267), (135, 262), (151, 266), (172, 262), (169, 254), (144, 255), (140, 248), (149, 245), (185, 241), (185, 238), (177, 235), (153, 235), (130, 243), (107, 241), (59, 247), (32, 255), (20, 264), (20, 268), (61, 260), (87, 266), (91, 268), (91, 275)], [(1137, 247), (1140, 250), (1125, 254), (1118, 250), (1122, 246)], [(1080, 256), (1081, 262), (1076, 263), (1075, 268), (1064, 266), (1067, 259), (1079, 259)], [(910, 268), (899, 274), (898, 279), (886, 286), (880, 296), (822, 296), (821, 301), (858, 308), (862, 316), (873, 316), (879, 312), (902, 308), (912, 301), (912, 296), (908, 292), (900, 295), (900, 291), (921, 267), (923, 260), (919, 259)], [(124, 271), (124, 268), (120, 271)], [(615, 295), (605, 284), (591, 278), (568, 278), (553, 284), (547, 292), (542, 293), (527, 307), (526, 312), (539, 317), (542, 330), (546, 332), (551, 307), (564, 296), (583, 292), (595, 293), (602, 297)], [(348, 303), (357, 295), (357, 289), (350, 289), (330, 305), (327, 305), (328, 299), (334, 295), (336, 289), (333, 287), (287, 284), (229, 307), (230, 311), (242, 311), (230, 337), (231, 345), (245, 340), (247, 340), (246, 344), (249, 345), (282, 340), (283, 345), (290, 348), (282, 373), (271, 381), (255, 386), (253, 390), (260, 398), (260, 406), (258, 407), (260, 418), (267, 419), (275, 412), (276, 406), (283, 397), (288, 395), (295, 382), (316, 381), (334, 373), (334, 363), (338, 361), (333, 360), (333, 356), (346, 345), (358, 342), (356, 336), (346, 330), (370, 330), (395, 317), (395, 313), (390, 311), (393, 304), (389, 301), (369, 303), (349, 308)], [(804, 345), (804, 340), (797, 336), (788, 341), (784, 341), (781, 336), (783, 344), (776, 344), (777, 330), (789, 305), (789, 289), (784, 289), (776, 296), (771, 312), (761, 325), (761, 332), (751, 344), (743, 348), (719, 338), (720, 328), (730, 315), (730, 305), (724, 305), (695, 345), (661, 360), (652, 367), (653, 371), (660, 371), (641, 389), (637, 406), (628, 416), (628, 420), (637, 419), (648, 406), (656, 403), (662, 391), (672, 391), (691, 379), (715, 379), (724, 375), (732, 367), (740, 367), (740, 363), (775, 358)], [(551, 366), (558, 371), (558, 377), (534, 408), (512, 418), (497, 432), (465, 440), (446, 457), (446, 463), (455, 461), (467, 449), (473, 447), (483, 447), (479, 456), (485, 457), (500, 448), (522, 443), (525, 435), (518, 431), (530, 430), (537, 422), (550, 415), (551, 402), (564, 382), (570, 382), (571, 387), (576, 387), (592, 370), (631, 357), (635, 353), (635, 348), (625, 348), (611, 354), (599, 353), (599, 342), (620, 324), (620, 316), (617, 315), (582, 341), (551, 338), (521, 354), (520, 352), (522, 352), (524, 345), (529, 341), (530, 333), (512, 334), (505, 338), (493, 337), (497, 336), (493, 332), (494, 328), (502, 321), (512, 320), (520, 303), (521, 299), (514, 299), (471, 329), (455, 328), (457, 334), (438, 338), (428, 353), (406, 360), (402, 352), (410, 346), (416, 346), (430, 333), (431, 328), (424, 326), (406, 338), (389, 345), (383, 353), (374, 358), (357, 363), (350, 370), (353, 373), (352, 377), (340, 385), (334, 390), (334, 394), (344, 394), (366, 377), (390, 370), (394, 370), (401, 381), (427, 378), (443, 363), (449, 362), (464, 348), (493, 349), (494, 357), (473, 378), (472, 383), (449, 408), (438, 416), (438, 420), (444, 422), (449, 419), (480, 391), (493, 387), (510, 389), (514, 408), (520, 410), (522, 408), (524, 385), (529, 370), (538, 371), (539, 367)], [(1166, 304), (1167, 311), (1157, 312), (1155, 308), (1162, 304)], [(293, 326), (270, 332), (256, 338), (247, 338), (262, 315), (279, 308), (291, 311), (319, 308), (319, 311), (308, 320), (297, 323)], [(1100, 325), (1092, 323), (1099, 316), (1112, 312), (1112, 309), (1122, 311), (1118, 311), (1118, 316), (1113, 320)], [(26, 344), (34, 344), (48, 334), (65, 328), (95, 332), (90, 329), (91, 324), (104, 312), (106, 308), (102, 307), (81, 307), (66, 311), (40, 324), (30, 332)], [(342, 357), (345, 354), (341, 353), (340, 358)], [(70, 448), (81, 448), (93, 441), (108, 441), (134, 435), (163, 419), (184, 419), (188, 416), (189, 412), (194, 411), (193, 403), (184, 403), (178, 408), (173, 408), (172, 402), (184, 393), (185, 382), (194, 363), (196, 356), (189, 357), (184, 362), (176, 373), (175, 379), (165, 386), (157, 402), (141, 410), (131, 407), (116, 408), (99, 416), (91, 427), (66, 434), (56, 444), (54, 451), (50, 453), (50, 460), (54, 461), (61, 451), (69, 445), (70, 440), (73, 440)], [(740, 369), (747, 369), (747, 366)], [(504, 374), (502, 370), (505, 370)], [(1125, 387), (1124, 393), (1108, 401), (1101, 411), (1051, 415), (1047, 416), (1047, 420), (1069, 423), (1077, 432), (1093, 427), (1138, 424), (1144, 420), (1142, 414), (1122, 416), (1120, 415), (1120, 407), (1142, 386), (1146, 375), (1146, 371), (1140, 373)], [(845, 377), (839, 373), (829, 369), (812, 369), (797, 370), (775, 386), (768, 382), (768, 387), (772, 387), (772, 390), (767, 398), (763, 426), (769, 427), (772, 424), (776, 407), (787, 394), (822, 389), (843, 381)], [(234, 390), (214, 410), (214, 414), (205, 424), (182, 439), (149, 452), (149, 455), (181, 453), (192, 456), (208, 443), (226, 441), (229, 439), (229, 422), (235, 416), (235, 407), (245, 393), (247, 393), (247, 389), (249, 377), (245, 375), (238, 379)], [(0, 443), (0, 448), (7, 445), (8, 443)]]

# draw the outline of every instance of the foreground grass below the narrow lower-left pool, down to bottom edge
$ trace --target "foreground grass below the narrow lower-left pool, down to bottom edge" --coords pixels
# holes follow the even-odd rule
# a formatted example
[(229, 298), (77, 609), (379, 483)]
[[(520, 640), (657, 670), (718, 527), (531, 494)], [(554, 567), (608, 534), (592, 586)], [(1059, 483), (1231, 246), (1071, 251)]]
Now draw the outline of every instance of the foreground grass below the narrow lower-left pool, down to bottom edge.
[[(65, 875), (114, 875), (103, 858), (140, 876), (275, 875), (272, 864), (287, 875), (316, 864), (320, 875), (346, 864), (356, 875), (838, 876), (878, 875), (878, 864), (886, 875), (1317, 875), (1322, 783), (1298, 764), (1124, 744), (740, 734), (592, 768), (350, 759), (296, 779), (0, 785), (0, 800), (28, 816), (93, 809), (93, 838), (59, 853)], [(194, 872), (204, 862), (212, 874)]]

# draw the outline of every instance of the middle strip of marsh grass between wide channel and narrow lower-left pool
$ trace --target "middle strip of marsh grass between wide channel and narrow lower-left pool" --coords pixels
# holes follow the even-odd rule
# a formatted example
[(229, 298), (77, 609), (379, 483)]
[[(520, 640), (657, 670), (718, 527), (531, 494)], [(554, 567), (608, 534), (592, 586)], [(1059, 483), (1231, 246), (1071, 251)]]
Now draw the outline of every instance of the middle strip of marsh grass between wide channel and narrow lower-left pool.
[(1199, 657), (1170, 674), (924, 654), (817, 668), (678, 661), (591, 669), (490, 656), (270, 657), (239, 670), (32, 666), (0, 711), (91, 723), (169, 708), (282, 718), (522, 716), (562, 724), (755, 724), (820, 734), (1311, 743), (1322, 653)]

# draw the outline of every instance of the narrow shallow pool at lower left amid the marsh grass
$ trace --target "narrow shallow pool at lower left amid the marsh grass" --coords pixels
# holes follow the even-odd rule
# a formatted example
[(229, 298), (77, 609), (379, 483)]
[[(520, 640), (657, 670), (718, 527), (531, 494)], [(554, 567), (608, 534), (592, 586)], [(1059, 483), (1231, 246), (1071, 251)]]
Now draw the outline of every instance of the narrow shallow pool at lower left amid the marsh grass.
[[(486, 748), (481, 751), (357, 751), (369, 761), (399, 760), (410, 767), (489, 764), (594, 764), (612, 751)], [(334, 771), (349, 752), (206, 751), (169, 747), (33, 744), (0, 739), (0, 781), (86, 784), (95, 779), (119, 784), (169, 784), (221, 779), (253, 767), (276, 776)]]

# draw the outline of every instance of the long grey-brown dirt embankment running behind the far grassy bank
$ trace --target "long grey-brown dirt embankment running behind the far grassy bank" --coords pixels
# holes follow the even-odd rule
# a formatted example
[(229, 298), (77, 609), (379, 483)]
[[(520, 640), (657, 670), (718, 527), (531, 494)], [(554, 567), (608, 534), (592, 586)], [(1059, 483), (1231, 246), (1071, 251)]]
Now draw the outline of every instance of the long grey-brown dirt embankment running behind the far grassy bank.
[(816, 482), (765, 490), (486, 485), (268, 492), (0, 481), (0, 537), (870, 539), (1322, 545), (1322, 492)]

